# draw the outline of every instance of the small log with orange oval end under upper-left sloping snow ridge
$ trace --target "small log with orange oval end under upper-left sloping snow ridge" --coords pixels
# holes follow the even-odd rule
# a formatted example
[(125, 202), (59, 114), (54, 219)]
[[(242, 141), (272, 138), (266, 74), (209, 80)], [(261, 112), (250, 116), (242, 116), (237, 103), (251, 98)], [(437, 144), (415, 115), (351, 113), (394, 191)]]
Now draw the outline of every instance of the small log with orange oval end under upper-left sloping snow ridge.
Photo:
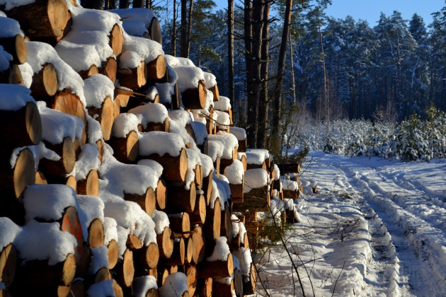
[(53, 96), (59, 87), (55, 66), (49, 63), (45, 63), (42, 66), (43, 68), (33, 75), (33, 83), (30, 86), (33, 97)]

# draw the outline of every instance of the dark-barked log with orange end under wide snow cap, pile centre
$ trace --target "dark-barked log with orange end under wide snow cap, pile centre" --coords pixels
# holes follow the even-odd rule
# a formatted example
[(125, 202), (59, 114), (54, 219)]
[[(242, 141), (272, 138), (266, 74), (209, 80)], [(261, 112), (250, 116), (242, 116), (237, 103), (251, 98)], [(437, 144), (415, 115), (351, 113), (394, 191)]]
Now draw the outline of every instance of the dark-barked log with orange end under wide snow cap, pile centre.
[(150, 156), (139, 156), (140, 159), (148, 158), (163, 166), (163, 177), (169, 182), (184, 182), (185, 174), (188, 170), (188, 155), (184, 148), (181, 148), (179, 156), (173, 157), (165, 154), (159, 156), (154, 153)]

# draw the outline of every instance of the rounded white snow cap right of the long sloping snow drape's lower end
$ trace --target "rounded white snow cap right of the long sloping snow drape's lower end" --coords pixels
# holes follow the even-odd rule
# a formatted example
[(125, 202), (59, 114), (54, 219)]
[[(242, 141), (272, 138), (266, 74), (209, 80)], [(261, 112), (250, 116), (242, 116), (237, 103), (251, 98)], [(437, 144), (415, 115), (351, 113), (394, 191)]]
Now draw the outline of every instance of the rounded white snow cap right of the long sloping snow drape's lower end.
[(106, 97), (113, 100), (115, 84), (105, 75), (94, 74), (84, 81), (86, 106), (101, 108)]

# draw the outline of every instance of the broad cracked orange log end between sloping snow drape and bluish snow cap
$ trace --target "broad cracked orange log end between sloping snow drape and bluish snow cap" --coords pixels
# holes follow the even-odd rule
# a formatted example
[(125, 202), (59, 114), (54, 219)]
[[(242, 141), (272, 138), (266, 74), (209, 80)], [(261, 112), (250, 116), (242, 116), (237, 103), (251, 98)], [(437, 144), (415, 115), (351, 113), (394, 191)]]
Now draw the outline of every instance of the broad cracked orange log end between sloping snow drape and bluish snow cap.
[(58, 91), (54, 98), (45, 98), (47, 106), (52, 109), (65, 112), (69, 115), (76, 115), (84, 122), (84, 132), (82, 132), (81, 146), (86, 143), (86, 115), (84, 105), (81, 103), (79, 96), (72, 93), (69, 88), (65, 88), (62, 91)]

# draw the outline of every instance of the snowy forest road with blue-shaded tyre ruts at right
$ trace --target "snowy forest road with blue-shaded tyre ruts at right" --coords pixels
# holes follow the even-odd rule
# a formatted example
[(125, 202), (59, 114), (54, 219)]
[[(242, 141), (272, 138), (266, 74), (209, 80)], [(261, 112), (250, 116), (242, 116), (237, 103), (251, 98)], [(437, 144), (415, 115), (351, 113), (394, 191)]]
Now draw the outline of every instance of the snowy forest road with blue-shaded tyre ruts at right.
[[(446, 165), (313, 153), (322, 192), (353, 199), (368, 223), (372, 296), (446, 296)], [(310, 199), (309, 199), (310, 200)], [(368, 293), (367, 293), (368, 295)]]

